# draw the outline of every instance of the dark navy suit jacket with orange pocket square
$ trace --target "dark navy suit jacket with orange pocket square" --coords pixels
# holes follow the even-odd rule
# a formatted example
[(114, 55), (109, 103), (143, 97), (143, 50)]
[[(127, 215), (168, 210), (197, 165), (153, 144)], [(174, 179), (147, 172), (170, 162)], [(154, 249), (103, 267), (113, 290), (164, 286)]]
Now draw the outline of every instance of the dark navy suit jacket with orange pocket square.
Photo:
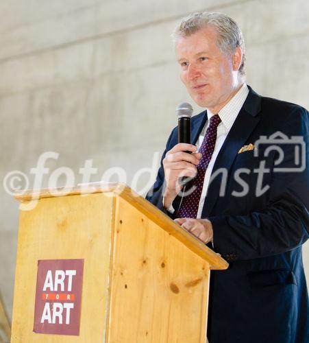
[[(193, 143), (206, 120), (206, 112), (193, 117)], [(302, 171), (295, 171), (295, 144), (291, 141), (278, 145), (284, 152), (281, 161), (279, 150), (269, 151), (266, 143), (258, 144), (261, 135), (269, 137), (277, 131), (289, 139), (304, 137), (307, 152), (301, 156), (306, 157)], [(212, 175), (219, 169), (225, 171), (210, 183), (201, 216), (212, 222), (214, 250), (230, 263), (227, 270), (211, 274), (210, 343), (309, 342), (308, 292), (301, 256), (301, 245), (309, 235), (308, 136), (307, 110), (260, 97), (249, 88)], [(258, 145), (258, 156), (253, 150), (238, 154), (249, 143)], [(165, 152), (175, 144), (177, 128), (171, 133)], [(296, 163), (299, 165), (299, 161)], [(261, 166), (268, 171), (259, 185)], [(219, 196), (224, 172), (225, 193)], [(243, 182), (249, 192), (237, 196), (235, 192), (244, 191)], [(257, 185), (268, 188), (257, 194)], [(161, 164), (147, 200), (162, 209), (163, 191)], [(177, 217), (179, 203), (177, 197), (173, 202), (175, 215), (167, 213), (170, 217)]]

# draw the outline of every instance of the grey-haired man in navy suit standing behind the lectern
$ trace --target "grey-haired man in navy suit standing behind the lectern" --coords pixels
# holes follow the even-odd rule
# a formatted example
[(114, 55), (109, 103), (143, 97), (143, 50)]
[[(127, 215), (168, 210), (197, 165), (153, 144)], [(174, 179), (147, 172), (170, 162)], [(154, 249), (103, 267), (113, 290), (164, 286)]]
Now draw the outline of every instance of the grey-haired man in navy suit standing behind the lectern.
[(182, 82), (206, 110), (192, 145), (171, 132), (147, 200), (230, 263), (211, 274), (208, 339), (309, 342), (308, 111), (245, 84), (243, 36), (225, 14), (192, 14), (174, 38)]

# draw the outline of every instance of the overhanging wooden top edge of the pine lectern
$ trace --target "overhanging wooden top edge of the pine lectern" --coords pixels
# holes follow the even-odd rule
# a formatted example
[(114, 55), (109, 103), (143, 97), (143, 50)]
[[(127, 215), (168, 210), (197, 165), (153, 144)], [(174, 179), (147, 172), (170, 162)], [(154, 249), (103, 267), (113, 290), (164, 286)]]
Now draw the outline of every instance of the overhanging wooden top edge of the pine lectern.
[(170, 217), (145, 200), (145, 198), (139, 196), (138, 193), (127, 187), (125, 184), (115, 182), (108, 185), (102, 185), (101, 182), (97, 182), (94, 184), (71, 187), (70, 189), (60, 187), (57, 189), (27, 190), (16, 192), (14, 197), (19, 202), (29, 202), (43, 198), (57, 198), (62, 196), (90, 196), (94, 193), (110, 193), (111, 196), (119, 196), (123, 198), (129, 202), (129, 204), (136, 207), (136, 209), (143, 213), (143, 215), (149, 217), (149, 219), (158, 224), (158, 226), (169, 233), (169, 235), (172, 235), (181, 241), (190, 250), (195, 252), (195, 254), (206, 260), (210, 264), (210, 269), (227, 269), (228, 263), (221, 257), (221, 255), (212, 251), (194, 235), (188, 233), (184, 228), (173, 222)]

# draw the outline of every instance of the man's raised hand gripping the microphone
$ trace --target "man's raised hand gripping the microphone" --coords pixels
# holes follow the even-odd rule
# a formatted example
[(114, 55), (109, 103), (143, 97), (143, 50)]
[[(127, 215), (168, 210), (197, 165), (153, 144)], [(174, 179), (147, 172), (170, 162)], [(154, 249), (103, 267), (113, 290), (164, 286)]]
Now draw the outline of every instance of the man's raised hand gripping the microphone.
[[(188, 176), (194, 178), (197, 174), (197, 165), (201, 154), (197, 153), (197, 147), (192, 144), (178, 143), (166, 152), (163, 159), (163, 167), (166, 181), (164, 191), (164, 207), (168, 209), (177, 194), (181, 191), (180, 178)], [(189, 154), (188, 152), (193, 152)]]

